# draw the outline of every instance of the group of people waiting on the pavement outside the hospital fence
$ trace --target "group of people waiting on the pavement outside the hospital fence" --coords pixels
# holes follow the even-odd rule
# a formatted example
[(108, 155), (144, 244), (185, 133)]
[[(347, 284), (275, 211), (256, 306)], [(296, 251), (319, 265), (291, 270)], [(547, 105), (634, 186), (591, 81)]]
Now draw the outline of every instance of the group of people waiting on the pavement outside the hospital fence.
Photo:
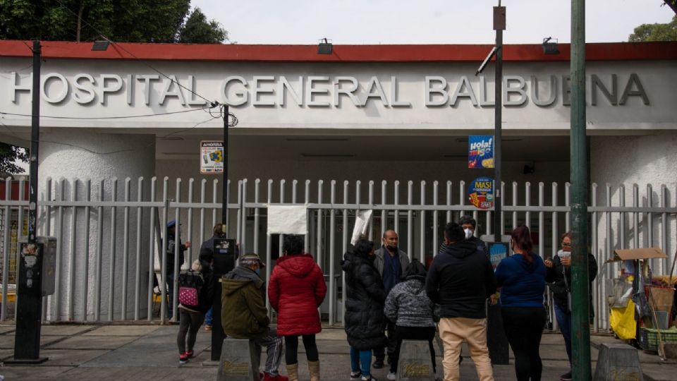
[[(444, 243), (429, 269), (398, 248), (396, 231), (387, 230), (382, 245), (360, 238), (343, 255), (346, 273), (343, 294), (344, 319), (350, 346), (350, 378), (376, 380), (371, 368), (389, 363), (389, 380), (396, 380), (398, 357), (404, 339), (429, 343), (433, 371), (437, 371), (433, 339), (439, 331), (444, 343), (444, 380), (458, 380), (461, 344), (466, 341), (480, 380), (493, 380), (487, 348), (487, 302), (501, 304), (504, 329), (515, 354), (516, 378), (540, 380), (542, 362), (539, 344), (546, 323), (544, 291), (546, 282), (554, 291), (556, 317), (571, 363), (571, 233), (562, 237), (562, 250), (542, 260), (533, 252), (527, 226), (511, 234), (513, 255), (492, 267), (484, 242), (474, 236), (476, 222), (468, 216), (444, 229)], [(216, 231), (216, 227), (215, 227)], [(224, 305), (222, 325), (229, 337), (252, 339), (267, 349), (267, 361), (260, 375), (268, 380), (298, 380), (298, 337), (302, 337), (311, 381), (319, 380), (319, 353), (315, 335), (322, 330), (318, 308), (327, 293), (324, 274), (312, 255), (303, 252), (303, 236), (287, 235), (283, 255), (277, 260), (268, 286), (260, 270), (259, 255), (240, 255), (238, 267), (221, 279)], [(209, 250), (201, 250), (193, 266), (210, 279)], [(590, 255), (590, 280), (597, 264)], [(207, 282), (212, 284), (212, 282)], [(496, 290), (500, 290), (499, 300)], [(212, 287), (202, 289), (207, 300)], [(277, 312), (277, 326), (270, 327), (265, 296)], [(211, 303), (209, 303), (211, 304)], [(181, 361), (193, 354), (195, 333), (202, 324), (207, 303), (197, 309), (179, 306), (181, 326), (178, 348)], [(186, 339), (186, 335), (188, 335)], [(286, 350), (283, 351), (283, 344)], [(282, 354), (288, 377), (279, 373)], [(375, 360), (372, 364), (372, 355)], [(561, 380), (571, 380), (571, 372)]]

